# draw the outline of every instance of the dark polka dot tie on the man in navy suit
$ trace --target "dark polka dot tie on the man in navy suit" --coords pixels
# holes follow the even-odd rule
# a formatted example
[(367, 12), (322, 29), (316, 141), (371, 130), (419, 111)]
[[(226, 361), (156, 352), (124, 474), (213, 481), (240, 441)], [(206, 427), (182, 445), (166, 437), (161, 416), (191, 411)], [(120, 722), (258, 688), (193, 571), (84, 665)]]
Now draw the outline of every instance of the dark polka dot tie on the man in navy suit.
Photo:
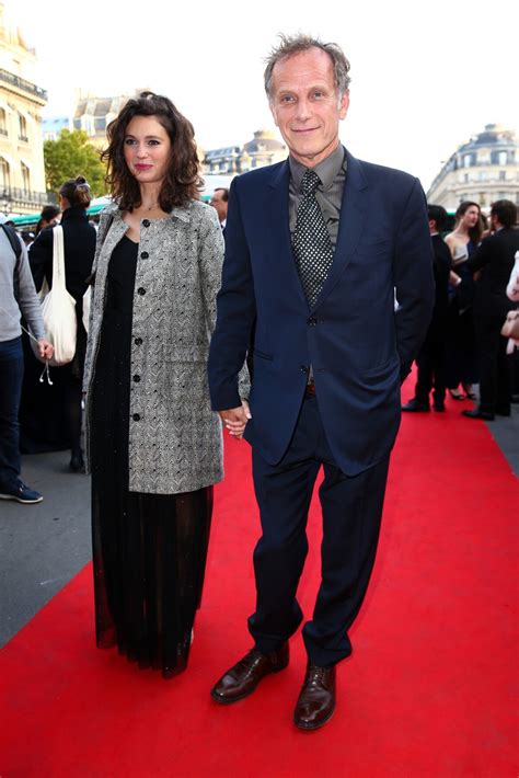
[(313, 170), (307, 170), (301, 183), (292, 249), (310, 308), (313, 308), (323, 288), (333, 262), (333, 245), (324, 224), (322, 210), (315, 199), (321, 179)]

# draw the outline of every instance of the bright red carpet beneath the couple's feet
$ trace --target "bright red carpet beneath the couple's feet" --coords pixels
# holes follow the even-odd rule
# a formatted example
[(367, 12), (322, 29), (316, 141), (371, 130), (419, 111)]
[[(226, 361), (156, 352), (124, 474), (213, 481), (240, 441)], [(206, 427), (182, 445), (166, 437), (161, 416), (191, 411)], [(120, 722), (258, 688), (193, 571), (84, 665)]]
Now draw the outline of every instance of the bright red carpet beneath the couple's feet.
[[(404, 392), (406, 398), (407, 392)], [(327, 726), (291, 723), (304, 670), (209, 698), (250, 645), (258, 531), (246, 444), (229, 442), (187, 673), (165, 682), (93, 641), (90, 568), (0, 653), (1, 778), (514, 778), (518, 481), (482, 423), (407, 415), (367, 602)], [(300, 599), (319, 577), (319, 512)]]

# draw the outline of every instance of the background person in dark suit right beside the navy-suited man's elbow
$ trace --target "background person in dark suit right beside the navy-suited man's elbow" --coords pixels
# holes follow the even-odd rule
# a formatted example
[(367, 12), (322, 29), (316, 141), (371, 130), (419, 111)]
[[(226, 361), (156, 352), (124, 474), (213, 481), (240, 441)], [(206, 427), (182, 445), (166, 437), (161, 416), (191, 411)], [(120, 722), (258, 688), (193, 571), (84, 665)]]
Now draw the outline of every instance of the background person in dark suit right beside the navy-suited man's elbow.
[(431, 390), (435, 411), (442, 412), (446, 410), (445, 345), (451, 255), (440, 234), (447, 221), (446, 209), (441, 205), (429, 205), (427, 206), (427, 214), (435, 254), (435, 309), (427, 335), (416, 357), (418, 375), (415, 396), (405, 405), (402, 405), (402, 410), (407, 412), (429, 411), (429, 393)]

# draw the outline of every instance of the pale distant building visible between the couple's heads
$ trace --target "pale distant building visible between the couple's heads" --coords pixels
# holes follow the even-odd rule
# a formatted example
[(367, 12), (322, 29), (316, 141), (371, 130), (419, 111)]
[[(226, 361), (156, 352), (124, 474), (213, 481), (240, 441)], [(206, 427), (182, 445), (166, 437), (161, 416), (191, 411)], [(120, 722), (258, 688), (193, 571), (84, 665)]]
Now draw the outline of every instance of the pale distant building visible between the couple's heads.
[(280, 162), (287, 157), (287, 147), (276, 138), (270, 129), (258, 129), (254, 138), (244, 146), (228, 146), (211, 149), (204, 159), (206, 173), (245, 173), (254, 168)]

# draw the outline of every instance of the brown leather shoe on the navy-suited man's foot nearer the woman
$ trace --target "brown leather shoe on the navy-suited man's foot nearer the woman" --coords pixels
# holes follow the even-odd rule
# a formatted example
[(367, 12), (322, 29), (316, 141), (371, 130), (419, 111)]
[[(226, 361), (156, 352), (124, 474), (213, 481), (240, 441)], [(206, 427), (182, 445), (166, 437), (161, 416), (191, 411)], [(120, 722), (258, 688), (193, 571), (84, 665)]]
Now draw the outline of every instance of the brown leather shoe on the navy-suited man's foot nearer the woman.
[(230, 705), (249, 697), (262, 678), (270, 673), (279, 673), (280, 670), (285, 670), (288, 660), (288, 642), (284, 643), (278, 651), (270, 651), (268, 654), (262, 654), (257, 649), (252, 649), (212, 687), (212, 699), (222, 705)]

